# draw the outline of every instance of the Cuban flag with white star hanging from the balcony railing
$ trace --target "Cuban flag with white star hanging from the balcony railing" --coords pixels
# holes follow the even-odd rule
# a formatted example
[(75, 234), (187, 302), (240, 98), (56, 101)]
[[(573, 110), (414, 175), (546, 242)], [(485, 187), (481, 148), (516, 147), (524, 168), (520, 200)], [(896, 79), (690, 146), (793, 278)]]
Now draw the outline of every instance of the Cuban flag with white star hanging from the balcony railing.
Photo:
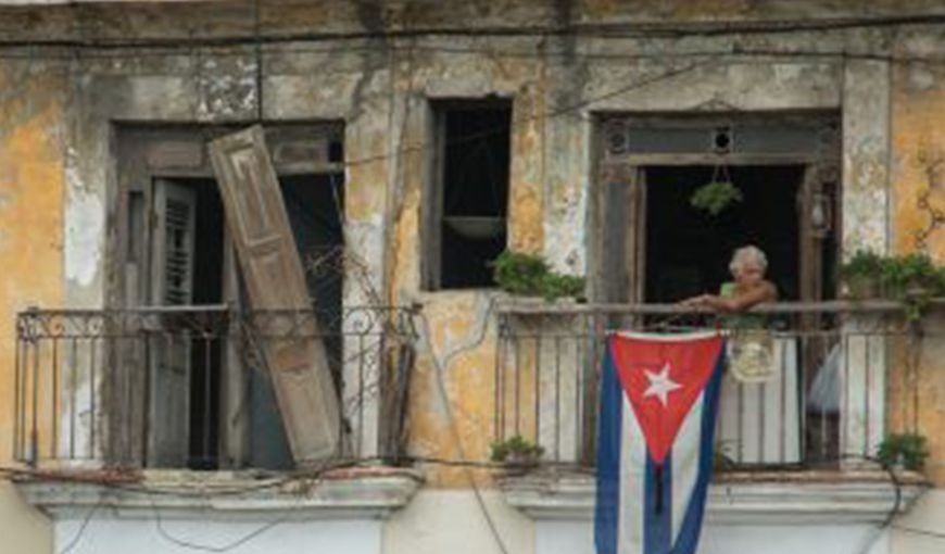
[(713, 469), (722, 338), (607, 341), (597, 441), (597, 554), (693, 554)]

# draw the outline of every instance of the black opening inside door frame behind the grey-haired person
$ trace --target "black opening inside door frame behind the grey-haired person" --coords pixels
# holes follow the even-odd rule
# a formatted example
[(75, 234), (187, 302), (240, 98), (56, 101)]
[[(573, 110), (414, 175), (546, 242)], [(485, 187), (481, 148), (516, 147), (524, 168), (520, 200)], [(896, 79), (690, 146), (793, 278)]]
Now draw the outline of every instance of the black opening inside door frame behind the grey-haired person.
[[(729, 169), (742, 201), (717, 215), (697, 210), (690, 198), (713, 178), (705, 165), (648, 166), (646, 182), (646, 302), (676, 302), (717, 292), (731, 280), (729, 260), (745, 244), (768, 256), (767, 277), (782, 300), (799, 299), (797, 196), (803, 165), (736, 166)], [(828, 287), (830, 289), (830, 287)]]

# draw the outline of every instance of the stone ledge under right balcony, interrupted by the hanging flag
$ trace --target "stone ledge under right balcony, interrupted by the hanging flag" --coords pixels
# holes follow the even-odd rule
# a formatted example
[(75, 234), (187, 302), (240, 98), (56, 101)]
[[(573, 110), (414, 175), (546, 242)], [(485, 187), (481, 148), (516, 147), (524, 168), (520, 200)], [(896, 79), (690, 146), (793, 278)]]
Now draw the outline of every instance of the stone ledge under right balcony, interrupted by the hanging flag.
[[(895, 488), (880, 471), (854, 476), (833, 473), (782, 475), (778, 480), (731, 479), (709, 487), (706, 520), (726, 524), (875, 524), (896, 504)], [(885, 476), (883, 480), (882, 477)], [(910, 476), (902, 480), (898, 511), (906, 512), (928, 486)], [(500, 481), (506, 502), (533, 519), (594, 517), (591, 475), (528, 475)]]

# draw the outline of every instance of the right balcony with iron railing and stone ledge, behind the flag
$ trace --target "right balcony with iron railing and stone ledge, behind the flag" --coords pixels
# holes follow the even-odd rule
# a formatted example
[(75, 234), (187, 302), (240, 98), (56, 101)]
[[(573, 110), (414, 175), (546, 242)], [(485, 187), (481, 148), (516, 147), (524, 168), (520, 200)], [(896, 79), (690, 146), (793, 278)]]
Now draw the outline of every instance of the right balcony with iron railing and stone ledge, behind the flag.
[[(860, 529), (908, 509), (924, 478), (882, 469), (874, 455), (890, 430), (917, 428), (916, 376), (923, 349), (941, 340), (938, 318), (909, 323), (895, 302), (780, 303), (756, 314), (770, 337), (773, 376), (755, 383), (730, 369), (723, 376), (709, 542), (728, 544), (726, 537), (753, 526)], [(540, 526), (574, 521), (590, 541), (606, 337), (717, 328), (731, 351), (746, 337), (729, 322), (677, 305), (500, 307), (493, 440), (519, 435), (544, 450), (534, 470), (500, 479), (506, 502)]]

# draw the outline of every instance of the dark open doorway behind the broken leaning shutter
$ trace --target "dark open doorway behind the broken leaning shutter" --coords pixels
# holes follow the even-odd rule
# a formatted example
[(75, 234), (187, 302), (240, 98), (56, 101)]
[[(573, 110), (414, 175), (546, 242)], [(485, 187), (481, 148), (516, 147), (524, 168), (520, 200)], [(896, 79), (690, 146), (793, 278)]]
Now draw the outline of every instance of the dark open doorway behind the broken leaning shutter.
[[(279, 185), (306, 285), (318, 318), (330, 369), (340, 383), (343, 287), (343, 176), (282, 176)], [(150, 273), (150, 302), (155, 305), (245, 305), (239, 267), (227, 255), (224, 206), (216, 180), (206, 177), (153, 179), (155, 217)], [(133, 214), (134, 216), (134, 214)], [(140, 216), (136, 219), (140, 219)], [(152, 420), (155, 421), (149, 465), (186, 465), (193, 469), (220, 466), (222, 435), (228, 413), (239, 406), (245, 421), (244, 459), (237, 466), (284, 469), (292, 456), (269, 374), (227, 356), (224, 338), (194, 338), (172, 343), (152, 364)], [(227, 376), (241, 372), (240, 398), (228, 399)], [(161, 421), (171, 424), (160, 428)]]

